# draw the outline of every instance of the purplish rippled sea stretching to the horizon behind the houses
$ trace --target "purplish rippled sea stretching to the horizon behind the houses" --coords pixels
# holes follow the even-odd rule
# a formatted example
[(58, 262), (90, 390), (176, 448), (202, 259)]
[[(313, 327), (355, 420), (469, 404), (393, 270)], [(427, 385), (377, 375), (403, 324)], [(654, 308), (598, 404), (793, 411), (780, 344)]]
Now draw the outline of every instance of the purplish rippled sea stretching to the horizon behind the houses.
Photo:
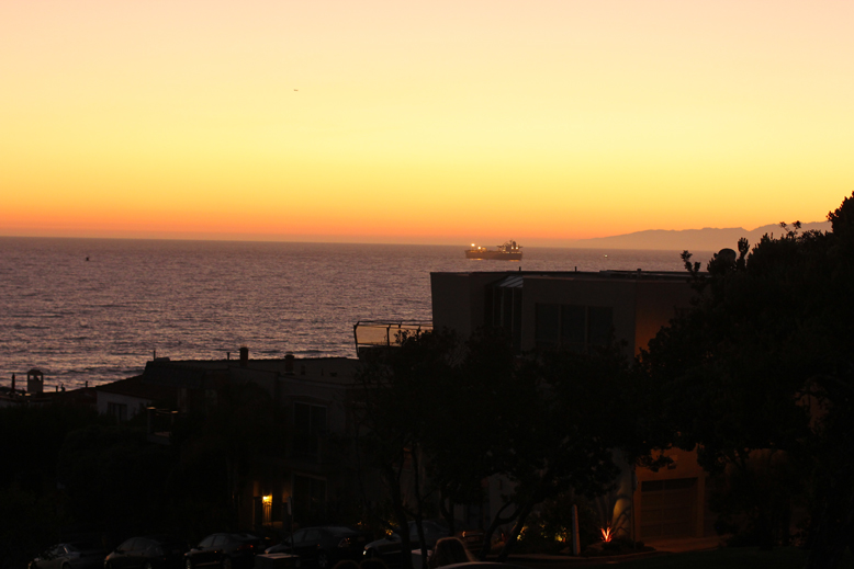
[(48, 389), (97, 385), (139, 373), (155, 350), (353, 356), (358, 320), (431, 318), (434, 271), (683, 270), (676, 251), (526, 247), (512, 263), (464, 249), (0, 237), (0, 382), (37, 367)]

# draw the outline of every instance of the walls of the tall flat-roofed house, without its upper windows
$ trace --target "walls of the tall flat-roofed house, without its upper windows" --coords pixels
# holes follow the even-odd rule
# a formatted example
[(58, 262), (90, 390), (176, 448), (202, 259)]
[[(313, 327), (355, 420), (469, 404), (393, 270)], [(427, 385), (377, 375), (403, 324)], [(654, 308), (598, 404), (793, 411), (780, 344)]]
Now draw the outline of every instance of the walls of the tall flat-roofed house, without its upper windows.
[[(435, 273), (431, 275), (434, 325), (469, 334), (483, 323), (485, 286), (507, 273)], [(640, 273), (633, 277), (607, 275), (525, 275), (521, 308), (521, 349), (537, 344), (537, 305), (611, 308), (616, 339), (632, 357), (659, 330), (690, 306), (694, 292), (687, 281), (662, 280)], [(703, 536), (706, 513), (706, 474), (696, 453), (671, 449), (674, 464), (653, 473), (622, 464), (613, 492), (600, 497), (603, 524), (634, 539)], [(503, 505), (507, 480), (493, 477), (488, 485), (492, 512)]]

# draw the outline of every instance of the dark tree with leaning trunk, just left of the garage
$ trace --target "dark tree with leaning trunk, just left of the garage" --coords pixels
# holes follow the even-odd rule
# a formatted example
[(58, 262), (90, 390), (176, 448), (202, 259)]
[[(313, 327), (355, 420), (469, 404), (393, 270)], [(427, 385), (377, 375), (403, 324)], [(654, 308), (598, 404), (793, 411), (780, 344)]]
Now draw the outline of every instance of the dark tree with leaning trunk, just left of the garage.
[(629, 465), (658, 468), (666, 459), (651, 452), (671, 434), (648, 419), (643, 382), (614, 343), (589, 353), (544, 351), (520, 363), (516, 380), (533, 395), (519, 406), (524, 420), (508, 446), (504, 474), (516, 483), (509, 514), (498, 512), (487, 531), (514, 522), (499, 561), (536, 505), (569, 490), (591, 499), (610, 490), (620, 471), (617, 452)]

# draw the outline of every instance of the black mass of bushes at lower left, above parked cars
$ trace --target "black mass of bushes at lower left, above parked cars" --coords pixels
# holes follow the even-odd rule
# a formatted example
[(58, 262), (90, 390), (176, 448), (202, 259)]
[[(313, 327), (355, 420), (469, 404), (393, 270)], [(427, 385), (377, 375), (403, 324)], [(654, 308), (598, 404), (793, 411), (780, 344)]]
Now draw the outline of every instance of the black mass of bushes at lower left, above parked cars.
[(110, 549), (134, 535), (195, 543), (236, 528), (236, 489), (286, 429), (263, 390), (226, 395), (178, 421), (170, 445), (148, 442), (143, 416), (116, 424), (75, 405), (0, 409), (0, 567), (23, 568), (60, 542)]

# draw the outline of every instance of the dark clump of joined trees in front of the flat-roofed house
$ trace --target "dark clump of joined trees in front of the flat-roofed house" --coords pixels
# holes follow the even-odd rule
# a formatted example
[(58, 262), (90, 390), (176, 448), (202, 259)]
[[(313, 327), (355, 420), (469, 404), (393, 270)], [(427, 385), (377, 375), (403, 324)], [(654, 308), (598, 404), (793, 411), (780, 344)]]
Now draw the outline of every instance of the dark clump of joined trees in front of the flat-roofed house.
[[(400, 527), (408, 519), (419, 525), (437, 493), (447, 505), (482, 502), (483, 480), (501, 474), (513, 488), (481, 557), (497, 528), (514, 523), (504, 560), (537, 504), (571, 488), (597, 496), (619, 471), (615, 451), (652, 464), (650, 451), (667, 440), (660, 423), (641, 420), (642, 382), (617, 346), (513, 354), (508, 338), (481, 330), (464, 345), (429, 332), (367, 357), (356, 408), (360, 448), (382, 474)], [(452, 508), (442, 513), (453, 527)]]

